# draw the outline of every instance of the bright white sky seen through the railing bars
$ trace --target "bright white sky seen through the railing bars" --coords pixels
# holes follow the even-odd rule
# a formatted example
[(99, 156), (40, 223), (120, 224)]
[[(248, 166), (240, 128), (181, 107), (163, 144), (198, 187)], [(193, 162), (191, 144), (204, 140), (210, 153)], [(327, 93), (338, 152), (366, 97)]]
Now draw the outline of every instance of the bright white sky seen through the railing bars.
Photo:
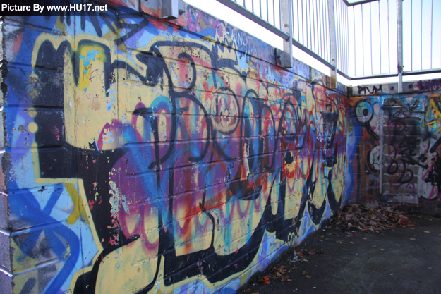
[[(231, 10), (231, 8), (224, 6), (224, 4), (221, 4), (217, 0), (185, 1), (191, 6), (195, 6), (196, 8), (210, 13), (212, 16), (225, 20), (227, 23), (248, 32), (250, 35), (258, 36), (262, 41), (271, 44), (273, 47), (279, 49), (282, 49), (283, 47), (281, 37), (274, 35), (274, 33), (266, 30), (264, 27), (261, 27), (236, 11)], [(251, 0), (245, 1), (247, 8), (250, 9)], [(266, 1), (270, 1), (268, 5), (268, 13), (266, 11)], [(276, 23), (276, 26), (279, 26), (279, 18), (276, 16), (275, 21), (273, 18), (273, 15), (277, 15), (278, 1), (274, 2), (276, 10), (276, 13), (274, 14), (272, 11), (272, 1), (273, 0), (260, 0), (262, 3), (262, 11), (260, 12), (258, 9), (259, 1), (255, 0), (255, 13), (258, 15), (262, 13), (262, 18), (266, 18), (266, 15), (268, 15), (270, 22)], [(296, 1), (298, 1), (299, 4), (298, 9)], [(323, 16), (320, 18), (320, 7), (325, 7), (324, 5), (326, 4), (326, 1), (327, 0), (294, 0), (294, 37), (299, 41), (302, 41), (303, 37), (304, 41), (309, 32), (308, 40), (310, 42), (308, 44), (311, 44), (311, 42), (313, 42), (312, 44), (317, 44), (315, 51), (320, 51), (319, 48), (321, 42), (323, 42), (325, 46), (326, 42), (329, 41), (325, 39), (325, 34), (323, 34), (320, 39), (318, 36), (320, 36), (321, 32), (317, 29), (317, 27), (320, 26), (320, 23), (327, 22), (327, 19)], [(243, 4), (243, 0), (238, 0), (238, 2), (239, 4)], [(319, 3), (321, 3), (322, 6), (320, 6)], [(301, 4), (304, 4), (304, 6)], [(315, 23), (313, 23), (316, 32), (314, 35), (315, 39), (311, 39), (313, 38), (311, 30), (306, 32), (308, 26), (303, 30), (303, 34), (305, 34), (304, 36), (302, 36), (301, 32), (302, 22), (308, 21), (308, 16), (310, 16), (310, 14), (308, 14), (310, 13), (310, 11), (308, 11), (309, 8), (307, 8), (309, 7), (308, 5), (312, 5), (312, 8), (310, 8), (310, 11), (313, 11), (312, 16), (314, 15), (314, 12), (318, 13), (318, 18), (315, 18)], [(336, 6), (336, 9), (339, 9), (339, 15), (345, 16), (345, 18), (340, 19), (344, 20), (349, 27), (347, 33), (342, 34), (342, 39), (340, 39), (340, 42), (344, 42), (344, 44), (348, 45), (346, 49), (347, 53), (344, 54), (346, 59), (343, 60), (344, 63), (342, 63), (342, 61), (339, 63), (339, 66), (344, 67), (346, 73), (349, 73), (351, 76), (361, 76), (397, 71), (396, 5), (396, 0), (380, 0), (374, 1), (371, 4), (353, 6), (353, 8), (348, 9), (347, 13), (341, 13), (341, 11), (343, 11), (342, 7), (344, 6)], [(301, 7), (303, 7), (303, 10)], [(387, 13), (387, 11), (389, 13)], [(430, 68), (430, 62), (432, 62), (432, 68), (441, 68), (441, 37), (439, 31), (441, 29), (440, 15), (441, 0), (403, 1), (404, 71), (418, 71)], [(361, 20), (363, 20), (363, 25), (361, 25)], [(300, 27), (300, 30), (296, 31), (296, 25)], [(387, 29), (387, 27), (389, 27), (389, 29)], [(413, 27), (413, 29), (411, 29), (411, 27)], [(431, 27), (433, 29), (431, 29)], [(339, 42), (338, 38), (339, 35), (337, 35), (337, 43)], [(293, 56), (313, 68), (322, 71), (322, 73), (330, 75), (330, 68), (294, 46)], [(433, 78), (441, 78), (441, 73), (407, 75), (403, 77), (403, 80), (406, 82)], [(397, 82), (398, 78), (347, 80), (341, 75), (337, 75), (337, 80), (344, 85), (368, 85)]]

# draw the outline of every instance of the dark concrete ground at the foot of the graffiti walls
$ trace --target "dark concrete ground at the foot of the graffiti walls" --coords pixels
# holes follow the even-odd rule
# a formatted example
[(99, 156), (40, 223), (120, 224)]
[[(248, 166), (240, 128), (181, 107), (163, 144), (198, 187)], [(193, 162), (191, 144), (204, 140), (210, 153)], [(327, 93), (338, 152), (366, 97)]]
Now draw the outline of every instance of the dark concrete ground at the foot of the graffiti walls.
[(415, 226), (380, 234), (320, 228), (296, 247), (314, 255), (288, 250), (238, 293), (441, 293), (441, 219), (413, 214), (409, 221)]

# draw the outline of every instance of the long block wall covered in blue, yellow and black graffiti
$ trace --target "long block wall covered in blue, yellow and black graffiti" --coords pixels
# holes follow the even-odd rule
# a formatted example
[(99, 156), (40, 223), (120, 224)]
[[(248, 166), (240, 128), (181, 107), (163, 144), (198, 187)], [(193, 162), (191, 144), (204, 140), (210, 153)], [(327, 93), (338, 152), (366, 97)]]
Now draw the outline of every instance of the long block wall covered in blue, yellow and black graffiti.
[(4, 17), (5, 293), (231, 292), (347, 197), (343, 88), (128, 2)]

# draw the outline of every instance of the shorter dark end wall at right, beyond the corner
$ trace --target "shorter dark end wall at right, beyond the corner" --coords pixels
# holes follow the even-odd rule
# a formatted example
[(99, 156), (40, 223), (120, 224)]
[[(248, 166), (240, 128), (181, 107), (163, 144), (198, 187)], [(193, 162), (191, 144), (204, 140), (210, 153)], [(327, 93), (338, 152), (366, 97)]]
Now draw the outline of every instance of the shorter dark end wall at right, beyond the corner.
[(349, 187), (354, 202), (441, 207), (441, 80), (354, 87), (349, 97)]

